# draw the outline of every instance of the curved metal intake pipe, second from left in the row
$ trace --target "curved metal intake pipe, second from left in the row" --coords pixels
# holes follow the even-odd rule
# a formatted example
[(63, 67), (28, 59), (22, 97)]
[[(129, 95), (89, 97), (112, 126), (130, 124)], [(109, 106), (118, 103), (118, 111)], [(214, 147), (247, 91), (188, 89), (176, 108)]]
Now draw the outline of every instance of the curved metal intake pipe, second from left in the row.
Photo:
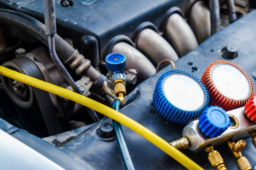
[(142, 51), (153, 62), (154, 66), (157, 66), (164, 59), (173, 62), (179, 59), (170, 44), (159, 33), (150, 28), (139, 33), (136, 48)]

